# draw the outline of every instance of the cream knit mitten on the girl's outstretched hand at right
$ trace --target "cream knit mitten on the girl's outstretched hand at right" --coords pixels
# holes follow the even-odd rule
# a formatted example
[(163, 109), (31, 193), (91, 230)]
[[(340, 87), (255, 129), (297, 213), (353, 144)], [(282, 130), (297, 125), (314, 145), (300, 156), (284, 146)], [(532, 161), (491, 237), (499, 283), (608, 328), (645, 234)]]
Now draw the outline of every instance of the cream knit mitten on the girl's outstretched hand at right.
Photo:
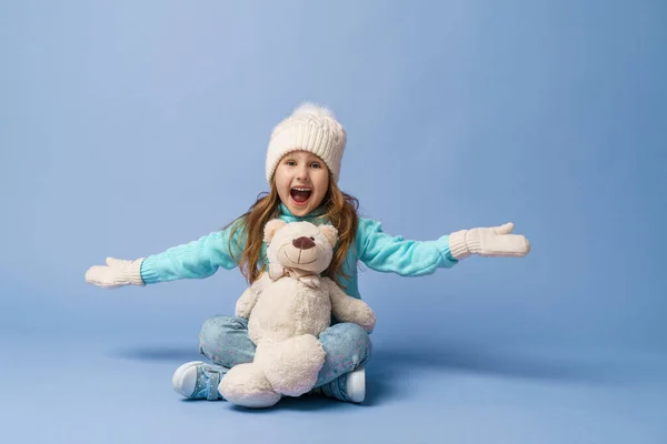
[(470, 254), (494, 258), (520, 258), (528, 254), (530, 243), (526, 236), (509, 234), (514, 223), (494, 228), (461, 230), (449, 235), (451, 255), (461, 260)]

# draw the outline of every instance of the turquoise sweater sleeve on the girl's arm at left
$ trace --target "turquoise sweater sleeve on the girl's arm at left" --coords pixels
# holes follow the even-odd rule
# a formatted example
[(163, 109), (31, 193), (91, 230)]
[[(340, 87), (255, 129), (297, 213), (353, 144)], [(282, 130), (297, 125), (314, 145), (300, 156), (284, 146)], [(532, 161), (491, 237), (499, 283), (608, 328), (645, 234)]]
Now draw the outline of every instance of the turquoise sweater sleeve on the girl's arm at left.
[(229, 250), (230, 225), (196, 241), (150, 255), (141, 263), (141, 279), (146, 284), (155, 284), (179, 279), (209, 278), (219, 268), (232, 270), (238, 266), (235, 258), (240, 259), (243, 249), (240, 241), (241, 231), (235, 233), (231, 252)]

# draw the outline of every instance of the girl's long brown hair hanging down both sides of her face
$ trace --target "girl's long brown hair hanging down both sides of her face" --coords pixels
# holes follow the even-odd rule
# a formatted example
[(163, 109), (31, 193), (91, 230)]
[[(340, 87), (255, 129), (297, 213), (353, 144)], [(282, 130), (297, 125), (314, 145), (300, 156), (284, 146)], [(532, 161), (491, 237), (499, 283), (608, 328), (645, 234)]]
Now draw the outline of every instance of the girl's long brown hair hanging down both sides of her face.
[[(229, 251), (233, 258), (235, 249), (231, 245), (235, 234), (240, 230), (240, 239), (245, 239), (243, 249), (240, 258), (233, 258), (246, 278), (248, 284), (252, 284), (263, 273), (263, 263), (260, 261), (263, 243), (263, 229), (267, 222), (278, 216), (278, 206), (280, 198), (276, 183), (271, 182), (270, 191), (260, 193), (257, 201), (250, 209), (225, 229), (231, 226), (229, 234)], [(320, 205), (325, 205), (326, 212), (318, 219), (328, 220), (331, 225), (338, 230), (338, 243), (334, 249), (334, 258), (327, 270), (322, 273), (334, 280), (341, 289), (346, 287), (337, 281), (338, 275), (349, 279), (349, 275), (342, 272), (347, 253), (350, 248), (355, 248), (357, 225), (359, 222), (358, 210), (359, 201), (357, 198), (340, 191), (336, 182), (329, 175), (329, 189), (322, 199)]]

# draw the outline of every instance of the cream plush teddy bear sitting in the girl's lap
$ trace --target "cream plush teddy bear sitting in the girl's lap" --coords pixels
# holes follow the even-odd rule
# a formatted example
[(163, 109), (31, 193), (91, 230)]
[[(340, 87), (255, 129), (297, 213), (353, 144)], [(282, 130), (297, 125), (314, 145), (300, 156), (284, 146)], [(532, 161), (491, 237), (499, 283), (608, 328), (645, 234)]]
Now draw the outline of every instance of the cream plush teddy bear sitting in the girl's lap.
[(229, 402), (270, 407), (282, 396), (300, 396), (316, 384), (326, 353), (318, 337), (331, 324), (354, 322), (371, 333), (376, 319), (368, 304), (321, 276), (334, 256), (336, 228), (273, 219), (265, 225), (268, 273), (236, 303), (248, 319), (256, 344), (251, 363), (235, 365), (218, 386)]

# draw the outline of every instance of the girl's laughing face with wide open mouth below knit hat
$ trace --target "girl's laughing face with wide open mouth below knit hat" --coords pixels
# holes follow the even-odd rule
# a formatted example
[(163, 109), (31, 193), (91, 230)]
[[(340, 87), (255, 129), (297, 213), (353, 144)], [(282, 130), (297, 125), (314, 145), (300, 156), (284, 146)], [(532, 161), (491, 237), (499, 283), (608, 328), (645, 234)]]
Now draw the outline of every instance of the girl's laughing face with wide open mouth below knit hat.
[(308, 151), (292, 151), (278, 162), (273, 175), (278, 195), (296, 216), (317, 209), (329, 189), (329, 169)]

